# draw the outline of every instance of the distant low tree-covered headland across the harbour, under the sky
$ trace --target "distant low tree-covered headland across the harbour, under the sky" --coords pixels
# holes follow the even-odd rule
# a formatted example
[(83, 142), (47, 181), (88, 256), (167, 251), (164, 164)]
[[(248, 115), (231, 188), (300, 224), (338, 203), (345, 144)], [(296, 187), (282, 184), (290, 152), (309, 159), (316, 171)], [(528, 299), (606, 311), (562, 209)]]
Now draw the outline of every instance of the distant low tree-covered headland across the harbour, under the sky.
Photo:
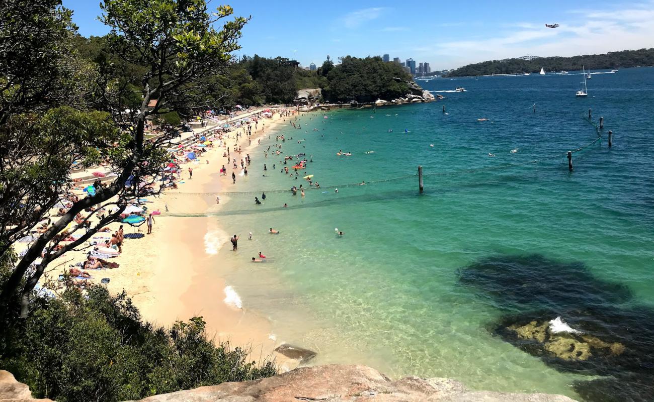
[(574, 56), (571, 58), (537, 58), (533, 60), (506, 59), (489, 60), (469, 64), (451, 71), (447, 76), (475, 76), (492, 74), (538, 73), (545, 71), (576, 71), (587, 69), (616, 69), (619, 67), (654, 65), (654, 48), (623, 50), (607, 54)]

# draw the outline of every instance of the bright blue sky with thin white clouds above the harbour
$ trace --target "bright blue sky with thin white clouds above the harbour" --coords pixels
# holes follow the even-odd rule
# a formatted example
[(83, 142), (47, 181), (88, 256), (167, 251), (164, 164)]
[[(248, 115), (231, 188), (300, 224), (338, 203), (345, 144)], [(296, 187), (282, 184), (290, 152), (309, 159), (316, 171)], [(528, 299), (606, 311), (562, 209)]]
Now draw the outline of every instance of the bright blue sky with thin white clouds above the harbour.
[[(63, 0), (82, 35), (103, 35), (98, 0)], [(239, 54), (296, 58), (390, 54), (432, 70), (487, 59), (575, 56), (654, 46), (654, 0), (226, 1), (252, 16)], [(210, 8), (220, 2), (212, 1)], [(560, 24), (547, 29), (545, 24)]]

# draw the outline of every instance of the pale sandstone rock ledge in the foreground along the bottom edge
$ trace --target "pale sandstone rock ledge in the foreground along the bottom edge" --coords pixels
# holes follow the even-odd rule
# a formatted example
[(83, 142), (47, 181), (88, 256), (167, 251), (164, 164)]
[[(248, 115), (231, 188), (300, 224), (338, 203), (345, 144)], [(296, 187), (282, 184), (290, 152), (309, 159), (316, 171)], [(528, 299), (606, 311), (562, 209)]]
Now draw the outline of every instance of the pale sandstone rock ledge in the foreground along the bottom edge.
[[(22, 386), (18, 399), (12, 402), (37, 401), (26, 399), (27, 386)], [(5, 376), (6, 377), (6, 376)], [(0, 377), (1, 378), (1, 377)], [(0, 390), (4, 384), (0, 380)], [(27, 391), (29, 394), (29, 391)], [(7, 397), (0, 391), (0, 402)], [(20, 399), (22, 398), (22, 399)], [(49, 401), (49, 399), (38, 399)], [(195, 390), (154, 395), (140, 402), (574, 402), (562, 395), (509, 394), (506, 392), (469, 391), (455, 380), (447, 378), (405, 377), (392, 381), (375, 369), (362, 365), (322, 365), (301, 367), (288, 373), (262, 380), (226, 382)], [(135, 402), (135, 401), (129, 401)]]

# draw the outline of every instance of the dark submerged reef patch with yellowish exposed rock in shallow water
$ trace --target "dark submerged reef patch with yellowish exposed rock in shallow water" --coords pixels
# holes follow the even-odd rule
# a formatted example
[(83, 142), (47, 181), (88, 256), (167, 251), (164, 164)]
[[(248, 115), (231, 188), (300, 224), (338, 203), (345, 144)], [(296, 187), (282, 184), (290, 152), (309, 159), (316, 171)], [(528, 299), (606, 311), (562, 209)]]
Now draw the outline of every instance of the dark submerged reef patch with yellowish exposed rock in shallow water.
[[(634, 303), (627, 286), (538, 254), (476, 261), (460, 284), (504, 311), (489, 324), (504, 341), (559, 371), (605, 376), (574, 383), (585, 400), (654, 401), (654, 309)], [(553, 333), (557, 317), (574, 330)]]

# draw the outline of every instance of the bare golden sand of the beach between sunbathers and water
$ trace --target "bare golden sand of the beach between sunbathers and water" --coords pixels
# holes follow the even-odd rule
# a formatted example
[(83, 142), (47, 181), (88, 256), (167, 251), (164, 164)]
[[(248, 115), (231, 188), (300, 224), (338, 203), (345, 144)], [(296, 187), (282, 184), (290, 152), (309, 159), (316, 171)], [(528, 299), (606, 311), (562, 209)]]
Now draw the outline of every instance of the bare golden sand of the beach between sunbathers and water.
[[(207, 335), (215, 337), (216, 343), (229, 341), (232, 346), (250, 348), (251, 356), (256, 360), (271, 356), (276, 344), (271, 336), (269, 320), (243, 309), (237, 293), (215, 272), (216, 267), (221, 267), (221, 262), (216, 261), (218, 250), (232, 245), (231, 235), (218, 226), (215, 218), (165, 216), (165, 206), (167, 199), (175, 197), (175, 193), (179, 192), (206, 193), (219, 192), (221, 189), (247, 191), (245, 184), (239, 183), (240, 169), (235, 171), (236, 184), (232, 184), (232, 164), (222, 154), (230, 147), (231, 156), (237, 162), (241, 158), (245, 159), (246, 154), (252, 157), (258, 137), (272, 133), (280, 122), (282, 118), (275, 113), (272, 119), (260, 120), (258, 129), (255, 130), (253, 124), (251, 145), (248, 144), (247, 135), (238, 138), (241, 154), (233, 152), (237, 148), (236, 134), (243, 133), (243, 129), (237, 128), (223, 134), (224, 147), (219, 147), (218, 141), (215, 141), (215, 148), (206, 148), (207, 152), (201, 154), (199, 163), (181, 164), (183, 183), (178, 183), (179, 188), (168, 190), (157, 198), (148, 197), (152, 201), (146, 204), (148, 210), (162, 211), (162, 215), (154, 216), (153, 233), (145, 234), (145, 224), (138, 228), (124, 225), (126, 235), (143, 233), (145, 237), (126, 237), (122, 244), (122, 254), (111, 259), (111, 262), (119, 263), (120, 267), (88, 271), (94, 277), (93, 280), (99, 282), (101, 278), (109, 278), (111, 281), (107, 288), (110, 292), (125, 290), (141, 310), (143, 319), (153, 324), (169, 327), (176, 320), (202, 316), (207, 322)], [(265, 129), (262, 123), (265, 124)], [(217, 126), (210, 127), (209, 131), (213, 128)], [(228, 168), (225, 176), (219, 173), (222, 165)], [(189, 179), (189, 167), (193, 168), (192, 179)], [(214, 200), (212, 205), (208, 205), (207, 197), (189, 195), (184, 196), (184, 203), (190, 210), (216, 211), (229, 201), (228, 197), (221, 196), (220, 205), (215, 205), (215, 196), (209, 199)], [(116, 231), (118, 225), (112, 224), (112, 231)], [(111, 237), (111, 233), (98, 235)], [(243, 241), (247, 241), (247, 235), (241, 239)], [(88, 250), (84, 250), (86, 251)], [(84, 252), (66, 254), (63, 267), (53, 263), (52, 266), (56, 266), (54, 273), (67, 270), (69, 263), (84, 261)]]

